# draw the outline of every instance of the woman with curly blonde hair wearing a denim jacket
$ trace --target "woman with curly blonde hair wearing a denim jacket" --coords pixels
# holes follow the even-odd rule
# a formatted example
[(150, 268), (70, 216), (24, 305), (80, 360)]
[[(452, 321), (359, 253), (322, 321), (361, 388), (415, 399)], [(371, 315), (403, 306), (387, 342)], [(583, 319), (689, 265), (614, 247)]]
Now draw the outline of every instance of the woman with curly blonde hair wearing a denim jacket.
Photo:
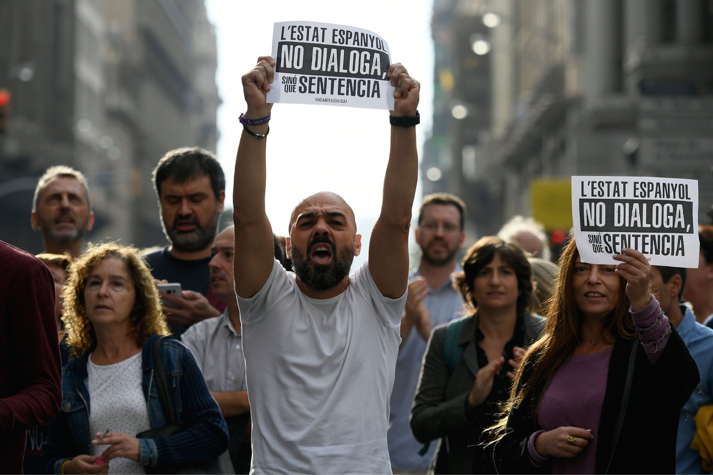
[[(138, 250), (90, 246), (70, 267), (63, 321), (71, 360), (63, 403), (43, 445), (48, 473), (143, 474), (145, 466), (205, 463), (227, 448), (220, 408), (193, 356), (168, 335), (153, 277)], [(156, 343), (178, 424), (168, 437), (158, 394)]]

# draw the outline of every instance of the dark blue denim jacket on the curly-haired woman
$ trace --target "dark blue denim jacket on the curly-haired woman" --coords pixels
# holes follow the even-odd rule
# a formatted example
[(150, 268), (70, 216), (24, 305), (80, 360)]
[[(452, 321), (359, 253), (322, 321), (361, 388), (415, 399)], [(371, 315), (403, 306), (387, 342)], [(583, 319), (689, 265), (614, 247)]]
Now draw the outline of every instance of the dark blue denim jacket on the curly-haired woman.
[[(150, 335), (141, 352), (143, 395), (148, 404), (151, 429), (167, 425), (153, 371), (153, 347), (158, 335)], [(47, 473), (61, 474), (64, 461), (91, 455), (94, 438), (89, 428), (87, 360), (90, 351), (72, 358), (62, 370), (63, 400), (59, 415), (49, 425), (42, 446)], [(228, 434), (220, 407), (210, 395), (190, 351), (178, 340), (165, 338), (161, 358), (173, 396), (176, 418), (187, 428), (170, 437), (138, 439), (139, 463), (149, 466), (202, 463), (227, 449)], [(135, 434), (129, 434), (135, 436)]]

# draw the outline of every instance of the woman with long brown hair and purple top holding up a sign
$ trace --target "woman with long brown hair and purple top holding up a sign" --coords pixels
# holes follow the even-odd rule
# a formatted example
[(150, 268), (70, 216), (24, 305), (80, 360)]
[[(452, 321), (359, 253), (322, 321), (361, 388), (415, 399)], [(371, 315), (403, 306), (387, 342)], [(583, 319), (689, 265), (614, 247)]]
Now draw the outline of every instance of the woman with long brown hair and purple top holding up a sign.
[(560, 256), (545, 332), (493, 427), (498, 473), (673, 474), (679, 414), (696, 362), (650, 293), (635, 249), (617, 265)]

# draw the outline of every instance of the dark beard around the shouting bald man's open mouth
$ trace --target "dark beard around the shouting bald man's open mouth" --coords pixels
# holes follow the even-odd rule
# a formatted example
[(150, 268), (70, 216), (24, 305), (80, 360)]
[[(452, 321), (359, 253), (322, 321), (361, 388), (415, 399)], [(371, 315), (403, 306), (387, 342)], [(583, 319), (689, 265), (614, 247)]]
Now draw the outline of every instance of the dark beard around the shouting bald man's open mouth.
[[(328, 266), (314, 263), (314, 270), (309, 265), (307, 256), (312, 246), (315, 244), (329, 244), (332, 247), (332, 259), (334, 262)], [(337, 255), (337, 246), (326, 237), (315, 238), (307, 246), (307, 254), (302, 253), (289, 243), (289, 251), (292, 254), (292, 270), (300, 281), (311, 288), (313, 291), (322, 292), (328, 291), (344, 280), (344, 277), (349, 275), (349, 270), (352, 268), (354, 261), (354, 247), (342, 249), (342, 252)]]

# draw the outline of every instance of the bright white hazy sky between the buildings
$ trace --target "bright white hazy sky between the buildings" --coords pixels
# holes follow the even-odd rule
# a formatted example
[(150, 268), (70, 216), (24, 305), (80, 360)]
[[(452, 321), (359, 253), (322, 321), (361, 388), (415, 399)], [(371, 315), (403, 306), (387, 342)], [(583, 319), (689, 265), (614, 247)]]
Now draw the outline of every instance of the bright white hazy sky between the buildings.
[[(255, 66), (258, 56), (272, 54), (272, 27), (277, 21), (321, 21), (381, 35), (389, 43), (391, 61), (403, 63), (421, 83), (420, 155), (433, 110), (431, 0), (391, 4), (383, 0), (207, 0), (206, 6), (217, 33), (217, 84), (223, 100), (218, 109), (217, 156), (227, 176), (226, 206), (232, 207), (235, 152), (242, 132), (238, 118), (245, 112), (240, 77)], [(329, 190), (352, 206), (366, 244), (379, 216), (388, 158), (386, 110), (275, 105), (267, 137), (265, 199), (273, 231), (286, 235), (294, 205), (309, 194)], [(420, 197), (419, 186), (416, 207)]]

